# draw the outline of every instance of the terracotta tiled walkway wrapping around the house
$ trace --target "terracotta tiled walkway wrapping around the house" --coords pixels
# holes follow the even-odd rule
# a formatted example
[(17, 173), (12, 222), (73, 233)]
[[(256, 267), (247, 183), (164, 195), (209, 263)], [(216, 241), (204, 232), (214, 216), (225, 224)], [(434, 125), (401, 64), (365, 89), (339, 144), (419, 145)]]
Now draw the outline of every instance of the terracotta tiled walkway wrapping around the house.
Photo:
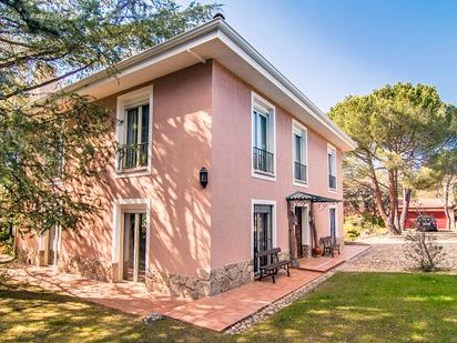
[[(344, 253), (335, 259), (345, 261), (365, 249), (367, 248), (348, 245)], [(328, 264), (324, 263), (326, 261), (324, 259), (326, 258), (316, 260), (321, 260), (321, 263), (328, 268)], [(316, 262), (311, 260), (306, 263), (311, 265), (311, 263)], [(302, 265), (306, 265), (306, 263), (302, 263)], [(144, 316), (158, 311), (197, 326), (223, 331), (321, 276), (323, 271), (319, 271), (318, 268), (324, 269), (322, 264), (315, 264), (315, 271), (294, 269), (291, 271), (291, 278), (282, 274), (276, 279), (276, 283), (272, 283), (271, 278), (268, 278), (262, 282), (252, 282), (228, 292), (195, 301), (149, 293), (141, 284), (104, 283), (77, 275), (57, 274), (52, 268), (20, 265), (13, 270), (13, 276), (20, 281), (38, 284), (49, 291), (64, 292), (128, 313)]]

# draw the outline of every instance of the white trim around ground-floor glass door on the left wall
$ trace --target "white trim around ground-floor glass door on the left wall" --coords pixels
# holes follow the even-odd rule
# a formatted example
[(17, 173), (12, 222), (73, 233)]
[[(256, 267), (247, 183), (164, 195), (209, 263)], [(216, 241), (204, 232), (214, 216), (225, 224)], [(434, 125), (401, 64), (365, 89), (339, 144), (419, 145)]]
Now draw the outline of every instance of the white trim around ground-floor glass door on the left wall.
[[(111, 262), (121, 264), (122, 255), (122, 213), (132, 211), (123, 209), (123, 205), (144, 205), (146, 212), (146, 271), (149, 268), (150, 245), (151, 245), (151, 200), (148, 198), (139, 199), (115, 199), (113, 202), (113, 233), (112, 233), (112, 251)], [(133, 210), (134, 211), (134, 210)], [(142, 211), (144, 212), (144, 211)], [(122, 270), (119, 268), (116, 280), (122, 280)]]

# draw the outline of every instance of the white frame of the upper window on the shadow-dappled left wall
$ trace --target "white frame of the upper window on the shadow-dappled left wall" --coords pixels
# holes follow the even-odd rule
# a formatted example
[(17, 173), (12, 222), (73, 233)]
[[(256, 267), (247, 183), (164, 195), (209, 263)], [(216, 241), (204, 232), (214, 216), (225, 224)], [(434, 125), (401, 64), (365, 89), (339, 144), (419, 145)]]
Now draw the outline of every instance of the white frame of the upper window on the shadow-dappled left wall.
[(116, 99), (115, 141), (124, 144), (126, 139), (126, 110), (134, 105), (149, 103), (149, 133), (148, 133), (148, 167), (119, 170), (118, 154), (114, 158), (115, 178), (134, 178), (151, 175), (152, 167), (152, 122), (153, 122), (153, 85), (122, 94)]

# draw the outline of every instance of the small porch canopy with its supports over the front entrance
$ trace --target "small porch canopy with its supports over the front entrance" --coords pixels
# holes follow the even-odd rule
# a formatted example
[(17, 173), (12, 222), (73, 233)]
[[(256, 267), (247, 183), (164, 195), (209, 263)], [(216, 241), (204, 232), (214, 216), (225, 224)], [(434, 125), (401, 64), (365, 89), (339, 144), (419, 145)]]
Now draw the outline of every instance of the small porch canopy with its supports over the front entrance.
[(297, 261), (297, 238), (296, 238), (296, 225), (301, 225), (297, 221), (297, 215), (295, 213), (295, 208), (303, 208), (308, 205), (308, 218), (309, 218), (309, 230), (312, 232), (312, 246), (311, 251), (313, 253), (314, 248), (318, 246), (317, 242), (317, 231), (314, 221), (314, 212), (318, 206), (326, 206), (331, 203), (338, 203), (343, 200), (326, 198), (304, 192), (295, 192), (288, 196), (286, 196), (287, 201), (287, 220), (288, 220), (288, 242), (290, 242), (290, 251), (291, 251), (291, 259), (292, 265), (298, 266)]

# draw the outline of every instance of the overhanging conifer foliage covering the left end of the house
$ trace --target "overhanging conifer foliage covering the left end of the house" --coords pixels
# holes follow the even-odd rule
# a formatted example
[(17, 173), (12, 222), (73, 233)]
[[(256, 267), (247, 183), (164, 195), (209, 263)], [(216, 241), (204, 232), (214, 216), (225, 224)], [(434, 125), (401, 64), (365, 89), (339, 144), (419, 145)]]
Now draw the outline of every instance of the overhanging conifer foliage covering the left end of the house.
[[(112, 151), (109, 110), (54, 91), (211, 19), (173, 0), (0, 1), (0, 230), (75, 228)], [(97, 163), (95, 163), (97, 162)]]

